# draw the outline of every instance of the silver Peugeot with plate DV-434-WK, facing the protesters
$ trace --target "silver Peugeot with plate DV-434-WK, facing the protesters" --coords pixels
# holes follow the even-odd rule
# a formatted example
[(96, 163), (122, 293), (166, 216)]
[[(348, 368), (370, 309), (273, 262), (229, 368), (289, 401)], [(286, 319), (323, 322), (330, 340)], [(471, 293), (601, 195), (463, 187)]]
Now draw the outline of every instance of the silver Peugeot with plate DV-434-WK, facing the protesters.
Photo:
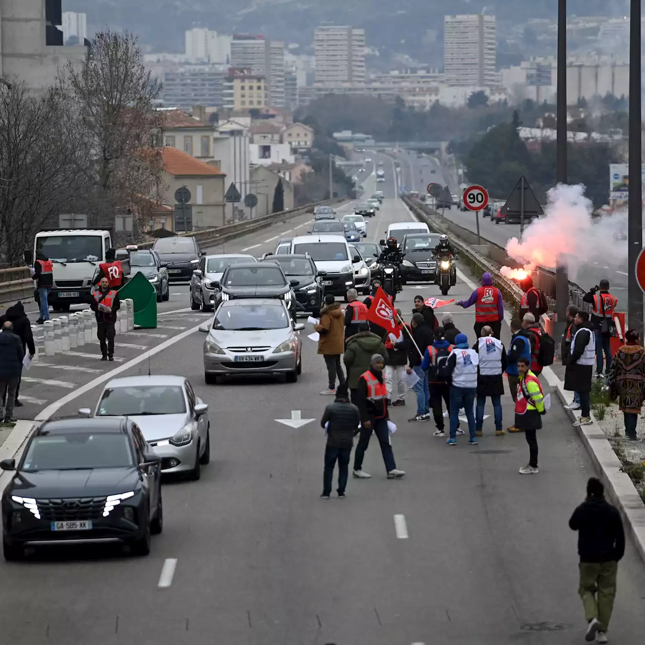
[(227, 300), (212, 323), (200, 330), (204, 340), (204, 381), (218, 375), (283, 373), (294, 383), (303, 370), (304, 324), (293, 323), (283, 301), (268, 298)]

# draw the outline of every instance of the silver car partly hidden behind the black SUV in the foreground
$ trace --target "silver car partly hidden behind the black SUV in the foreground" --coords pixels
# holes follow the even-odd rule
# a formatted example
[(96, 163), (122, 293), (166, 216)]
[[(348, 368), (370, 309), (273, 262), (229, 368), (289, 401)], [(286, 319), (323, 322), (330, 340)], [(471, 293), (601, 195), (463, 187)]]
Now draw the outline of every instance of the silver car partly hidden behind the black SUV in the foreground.
[[(79, 410), (89, 416), (90, 410)], [(129, 376), (106, 384), (95, 417), (130, 417), (161, 457), (163, 473), (201, 477), (210, 461), (208, 405), (183, 376)]]

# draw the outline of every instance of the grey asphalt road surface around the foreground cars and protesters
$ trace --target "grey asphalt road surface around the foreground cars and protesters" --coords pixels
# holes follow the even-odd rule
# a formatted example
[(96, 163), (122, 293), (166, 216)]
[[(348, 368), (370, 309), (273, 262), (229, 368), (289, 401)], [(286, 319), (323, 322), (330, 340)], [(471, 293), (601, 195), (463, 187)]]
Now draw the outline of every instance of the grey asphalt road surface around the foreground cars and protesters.
[[(410, 219), (393, 200), (380, 217), (381, 224)], [(461, 276), (450, 297), (470, 291)], [(415, 293), (439, 292), (407, 286), (397, 299), (406, 319)], [(447, 309), (473, 342), (471, 310)], [(406, 478), (385, 479), (372, 442), (364, 468), (373, 478), (350, 480), (344, 501), (321, 501), (318, 419), (329, 399), (318, 395), (326, 373), (315, 344), (304, 337), (295, 384), (237, 379), (206, 386), (203, 339), (194, 333), (150, 360), (152, 373), (172, 366), (186, 375), (210, 405), (213, 459), (201, 481), (166, 482), (164, 533), (149, 557), (77, 551), (71, 560), (59, 553), (0, 563), (7, 642), (79, 642), (88, 634), (97, 645), (582, 640), (575, 534), (566, 522), (593, 467), (559, 404), (540, 435), (541, 473), (521, 477), (524, 437), (495, 437), (489, 417), (478, 448), (460, 439), (449, 449), (432, 436), (432, 422), (406, 421), (414, 412), (408, 393), (406, 407), (392, 410), (395, 457)], [(125, 374), (135, 373), (148, 373), (148, 362)], [(99, 389), (60, 413), (94, 404)], [(313, 421), (297, 429), (275, 421), (293, 410)], [(508, 424), (508, 395), (504, 416)], [(397, 537), (395, 515), (404, 517), (407, 538)], [(177, 566), (170, 587), (159, 589), (166, 559)], [(615, 642), (642, 636), (643, 597), (643, 567), (628, 543)]]

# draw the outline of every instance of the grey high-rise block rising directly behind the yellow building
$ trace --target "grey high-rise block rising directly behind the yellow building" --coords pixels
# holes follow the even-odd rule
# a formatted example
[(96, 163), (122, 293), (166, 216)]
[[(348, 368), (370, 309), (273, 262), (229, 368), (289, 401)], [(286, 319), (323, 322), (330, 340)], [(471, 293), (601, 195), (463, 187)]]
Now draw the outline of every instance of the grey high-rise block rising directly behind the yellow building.
[(268, 104), (284, 107), (284, 43), (263, 35), (235, 34), (231, 42), (232, 68), (248, 69), (268, 82)]

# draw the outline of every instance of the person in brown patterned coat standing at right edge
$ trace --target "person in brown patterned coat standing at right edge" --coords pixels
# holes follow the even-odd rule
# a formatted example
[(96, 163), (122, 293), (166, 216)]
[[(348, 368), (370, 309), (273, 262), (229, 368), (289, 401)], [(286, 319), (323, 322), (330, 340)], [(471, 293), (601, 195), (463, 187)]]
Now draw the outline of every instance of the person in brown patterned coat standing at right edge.
[(625, 435), (631, 441), (638, 441), (636, 424), (645, 399), (645, 349), (640, 344), (636, 330), (626, 332), (625, 341), (626, 344), (619, 347), (611, 364), (610, 395), (612, 399), (618, 397)]

